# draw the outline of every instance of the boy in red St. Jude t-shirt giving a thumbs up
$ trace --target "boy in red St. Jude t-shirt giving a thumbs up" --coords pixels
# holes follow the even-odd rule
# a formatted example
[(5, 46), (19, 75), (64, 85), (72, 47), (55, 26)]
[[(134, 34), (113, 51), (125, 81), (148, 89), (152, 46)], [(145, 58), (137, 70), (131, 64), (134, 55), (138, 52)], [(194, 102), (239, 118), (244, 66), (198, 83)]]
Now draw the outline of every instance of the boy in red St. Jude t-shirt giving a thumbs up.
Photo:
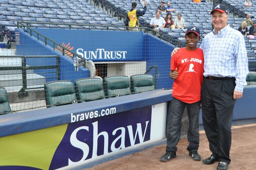
[(197, 43), (200, 30), (190, 27), (186, 31), (186, 47), (181, 48), (171, 59), (170, 78), (175, 79), (172, 91), (171, 120), (167, 134), (166, 153), (161, 161), (176, 158), (177, 143), (180, 138), (181, 118), (185, 107), (189, 117), (187, 150), (193, 160), (201, 160), (199, 147), (199, 110), (201, 104), (201, 86), (204, 73), (204, 54)]

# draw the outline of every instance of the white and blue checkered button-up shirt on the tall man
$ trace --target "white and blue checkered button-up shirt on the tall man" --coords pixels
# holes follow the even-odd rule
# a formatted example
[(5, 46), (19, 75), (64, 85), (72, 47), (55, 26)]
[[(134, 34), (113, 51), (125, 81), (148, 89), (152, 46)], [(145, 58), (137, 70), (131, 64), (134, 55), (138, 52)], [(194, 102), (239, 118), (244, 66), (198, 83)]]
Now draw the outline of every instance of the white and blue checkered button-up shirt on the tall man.
[(243, 92), (249, 73), (244, 37), (229, 25), (216, 34), (207, 34), (200, 48), (204, 51), (204, 76), (235, 77), (235, 90)]

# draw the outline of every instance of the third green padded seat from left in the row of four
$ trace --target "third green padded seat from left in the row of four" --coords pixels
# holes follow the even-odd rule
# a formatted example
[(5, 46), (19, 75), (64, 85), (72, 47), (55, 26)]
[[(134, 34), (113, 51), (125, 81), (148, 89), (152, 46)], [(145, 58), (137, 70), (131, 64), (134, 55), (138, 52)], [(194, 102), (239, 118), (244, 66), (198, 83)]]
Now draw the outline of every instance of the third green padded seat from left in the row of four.
[(104, 78), (106, 98), (131, 94), (130, 79), (127, 76), (112, 76)]

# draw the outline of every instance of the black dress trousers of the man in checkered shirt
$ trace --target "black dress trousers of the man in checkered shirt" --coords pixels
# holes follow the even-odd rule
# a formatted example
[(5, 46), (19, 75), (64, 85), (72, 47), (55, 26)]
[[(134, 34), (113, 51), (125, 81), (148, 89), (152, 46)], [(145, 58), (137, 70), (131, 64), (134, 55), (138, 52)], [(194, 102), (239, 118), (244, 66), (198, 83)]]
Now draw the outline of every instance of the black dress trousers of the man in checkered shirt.
[(211, 152), (219, 161), (230, 163), (232, 114), (235, 78), (212, 80), (204, 78), (201, 89), (204, 130)]

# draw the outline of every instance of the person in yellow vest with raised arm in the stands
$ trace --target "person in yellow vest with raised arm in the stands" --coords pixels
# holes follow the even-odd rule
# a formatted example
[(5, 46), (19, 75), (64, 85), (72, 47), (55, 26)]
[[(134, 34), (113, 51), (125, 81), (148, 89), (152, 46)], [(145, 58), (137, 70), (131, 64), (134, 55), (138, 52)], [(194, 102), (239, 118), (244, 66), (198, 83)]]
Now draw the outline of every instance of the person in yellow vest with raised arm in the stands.
[[(145, 6), (143, 8), (143, 11), (136, 9), (136, 6), (137, 6), (136, 2), (132, 2), (131, 6), (132, 6), (132, 8), (130, 9), (130, 11), (127, 12), (127, 15), (126, 15), (125, 26), (129, 26), (129, 27), (138, 26), (139, 27), (138, 17), (143, 16), (146, 13), (147, 1), (145, 1)], [(131, 28), (127, 28), (127, 29), (131, 29)]]

